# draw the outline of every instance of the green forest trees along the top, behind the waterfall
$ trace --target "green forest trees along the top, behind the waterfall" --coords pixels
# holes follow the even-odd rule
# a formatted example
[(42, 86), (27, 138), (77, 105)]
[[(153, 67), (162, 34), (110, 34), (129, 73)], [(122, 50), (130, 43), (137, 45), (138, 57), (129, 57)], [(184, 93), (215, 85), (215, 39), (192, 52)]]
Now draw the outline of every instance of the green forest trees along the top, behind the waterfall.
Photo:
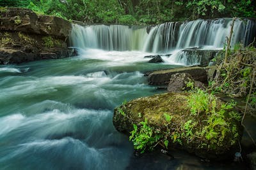
[(256, 17), (256, 1), (0, 0), (0, 6), (29, 8), (89, 24), (159, 24), (217, 17)]

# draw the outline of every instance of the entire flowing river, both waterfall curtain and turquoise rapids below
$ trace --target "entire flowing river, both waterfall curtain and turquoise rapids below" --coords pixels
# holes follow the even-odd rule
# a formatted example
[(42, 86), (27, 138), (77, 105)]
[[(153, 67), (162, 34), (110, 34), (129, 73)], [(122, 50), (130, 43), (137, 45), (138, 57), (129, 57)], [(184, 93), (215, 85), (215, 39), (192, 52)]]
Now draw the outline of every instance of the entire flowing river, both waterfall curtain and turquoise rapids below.
[[(242, 169), (179, 151), (174, 160), (159, 152), (134, 157), (132, 143), (112, 124), (113, 109), (122, 102), (163, 92), (147, 85), (145, 71), (184, 66), (172, 55), (163, 64), (148, 63), (145, 55), (221, 48), (223, 37), (216, 43), (212, 33), (197, 32), (186, 43), (180, 37), (187, 27), (218, 32), (220, 26), (224, 36), (228, 24), (220, 22), (169, 23), (148, 33), (146, 27), (73, 25), (77, 57), (0, 66), (0, 169)], [(238, 42), (247, 26), (236, 25)]]

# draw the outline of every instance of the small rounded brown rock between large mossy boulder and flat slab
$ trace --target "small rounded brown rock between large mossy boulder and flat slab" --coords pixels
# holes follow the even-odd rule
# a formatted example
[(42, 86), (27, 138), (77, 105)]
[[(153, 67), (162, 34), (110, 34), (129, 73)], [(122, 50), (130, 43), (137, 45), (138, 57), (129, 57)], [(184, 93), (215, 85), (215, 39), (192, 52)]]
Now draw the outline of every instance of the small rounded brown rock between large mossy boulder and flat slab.
[(170, 83), (168, 84), (168, 92), (182, 92), (184, 90), (191, 90), (188, 87), (188, 83), (193, 83), (193, 88), (205, 89), (204, 83), (200, 81), (195, 81), (193, 77), (188, 73), (175, 73), (172, 74), (170, 78)]

